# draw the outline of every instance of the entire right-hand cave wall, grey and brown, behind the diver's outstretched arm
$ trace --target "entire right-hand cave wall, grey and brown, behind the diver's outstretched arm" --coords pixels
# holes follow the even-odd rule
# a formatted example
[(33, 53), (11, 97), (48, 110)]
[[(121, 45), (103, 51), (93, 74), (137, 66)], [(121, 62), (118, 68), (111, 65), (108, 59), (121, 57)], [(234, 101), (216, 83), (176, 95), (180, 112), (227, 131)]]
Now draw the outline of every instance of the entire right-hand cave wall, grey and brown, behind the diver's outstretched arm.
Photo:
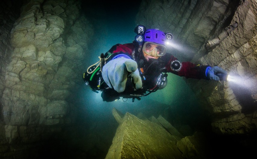
[[(173, 33), (171, 48), (180, 61), (220, 66), (240, 75), (244, 85), (227, 81), (185, 79), (203, 110), (212, 117), (218, 134), (252, 134), (256, 131), (256, 1), (143, 1), (137, 24)], [(207, 49), (208, 40), (238, 23), (218, 46)], [(188, 49), (191, 48), (191, 49)], [(192, 52), (188, 51), (191, 50)]]

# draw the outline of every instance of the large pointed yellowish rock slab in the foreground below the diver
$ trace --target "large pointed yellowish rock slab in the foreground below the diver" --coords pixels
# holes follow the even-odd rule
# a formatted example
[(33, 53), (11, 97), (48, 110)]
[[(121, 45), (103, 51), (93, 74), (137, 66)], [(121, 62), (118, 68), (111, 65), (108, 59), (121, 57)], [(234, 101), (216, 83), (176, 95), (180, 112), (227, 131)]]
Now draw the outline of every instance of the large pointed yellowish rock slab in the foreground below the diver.
[(160, 125), (126, 113), (120, 123), (106, 159), (183, 158), (176, 138)]

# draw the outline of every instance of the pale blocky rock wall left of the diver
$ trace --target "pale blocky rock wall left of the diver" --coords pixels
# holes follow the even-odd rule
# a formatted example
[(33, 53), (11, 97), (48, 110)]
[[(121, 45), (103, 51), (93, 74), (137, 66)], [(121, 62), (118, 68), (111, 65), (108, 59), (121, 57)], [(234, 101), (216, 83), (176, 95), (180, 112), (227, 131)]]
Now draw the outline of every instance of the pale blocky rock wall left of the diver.
[(3, 43), (10, 45), (1, 48), (0, 99), (1, 144), (7, 146), (1, 157), (21, 155), (12, 144), (43, 143), (76, 121), (73, 97), (93, 35), (80, 9), (76, 0), (28, 1), (20, 17), (11, 18), (14, 25), (5, 27)]

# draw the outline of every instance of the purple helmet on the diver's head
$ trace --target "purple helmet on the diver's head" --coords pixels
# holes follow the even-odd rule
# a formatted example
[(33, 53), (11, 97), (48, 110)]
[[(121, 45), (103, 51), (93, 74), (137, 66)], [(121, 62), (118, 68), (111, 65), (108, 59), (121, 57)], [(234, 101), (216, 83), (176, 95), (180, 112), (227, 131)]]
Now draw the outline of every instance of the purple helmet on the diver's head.
[(165, 45), (165, 33), (158, 29), (147, 29), (144, 34), (144, 42), (154, 42)]

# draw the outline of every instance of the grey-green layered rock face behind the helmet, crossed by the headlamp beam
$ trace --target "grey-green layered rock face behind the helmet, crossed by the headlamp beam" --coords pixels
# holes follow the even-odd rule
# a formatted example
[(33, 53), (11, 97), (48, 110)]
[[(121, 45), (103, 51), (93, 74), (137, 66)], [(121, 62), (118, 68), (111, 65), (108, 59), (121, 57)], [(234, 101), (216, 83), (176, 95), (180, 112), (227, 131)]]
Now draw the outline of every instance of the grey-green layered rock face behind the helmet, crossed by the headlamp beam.
[(180, 60), (191, 60), (201, 46), (230, 21), (239, 1), (142, 1), (137, 24), (173, 34), (171, 51)]

